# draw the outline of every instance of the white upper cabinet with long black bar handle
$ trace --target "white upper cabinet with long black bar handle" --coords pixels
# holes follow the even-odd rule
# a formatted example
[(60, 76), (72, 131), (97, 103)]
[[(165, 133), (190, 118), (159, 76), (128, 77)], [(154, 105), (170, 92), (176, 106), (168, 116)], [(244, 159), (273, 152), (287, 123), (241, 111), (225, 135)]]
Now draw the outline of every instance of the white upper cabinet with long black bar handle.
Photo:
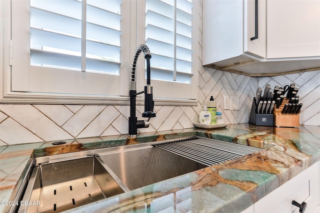
[(202, 65), (251, 76), (320, 69), (320, 0), (203, 0)]

